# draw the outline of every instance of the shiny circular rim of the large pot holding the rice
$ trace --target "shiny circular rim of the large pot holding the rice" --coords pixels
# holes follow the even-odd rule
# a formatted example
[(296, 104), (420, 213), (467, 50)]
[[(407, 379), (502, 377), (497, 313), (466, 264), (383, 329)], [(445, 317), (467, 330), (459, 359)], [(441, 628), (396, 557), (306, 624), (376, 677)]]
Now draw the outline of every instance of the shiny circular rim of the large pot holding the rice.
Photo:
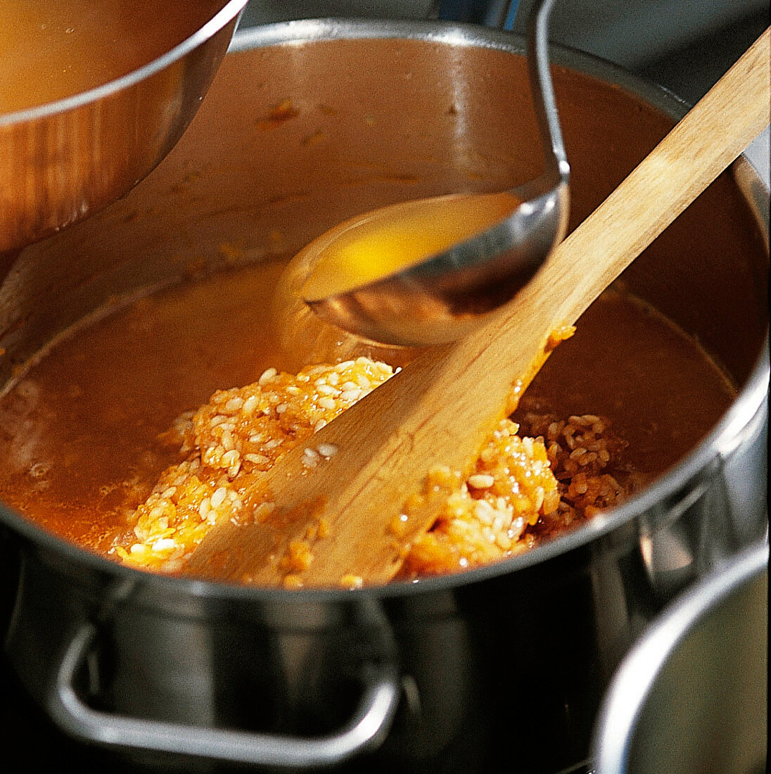
[[(242, 4), (242, 0), (232, 0), (226, 8)], [(224, 12), (224, 10), (223, 10)], [(221, 12), (221, 13), (223, 13)], [(219, 15), (218, 15), (219, 16)], [(215, 17), (217, 19), (218, 17)], [(213, 23), (214, 19), (212, 20)], [(204, 28), (206, 29), (206, 28)], [(195, 37), (195, 36), (194, 36)], [(192, 40), (193, 38), (189, 39)], [(473, 46), (502, 50), (506, 53), (523, 54), (525, 38), (516, 33), (507, 33), (499, 29), (482, 26), (457, 24), (455, 22), (413, 20), (369, 19), (309, 19), (292, 22), (279, 22), (261, 27), (248, 28), (235, 33), (228, 53), (238, 53), (267, 46), (300, 46), (306, 43), (326, 43), (340, 39), (413, 39), (427, 43), (446, 43), (457, 46)], [(188, 42), (183, 43), (186, 45)], [(603, 80), (606, 84), (625, 88), (626, 91), (649, 102), (654, 108), (663, 111), (670, 118), (679, 120), (689, 106), (664, 87), (644, 80), (618, 65), (595, 57), (591, 54), (568, 48), (551, 46), (552, 62), (569, 67), (583, 74)], [(174, 50), (176, 51), (176, 49)], [(171, 56), (173, 52), (169, 55)], [(162, 57), (163, 59), (163, 57)], [(160, 60), (156, 60), (156, 63)], [(139, 71), (138, 71), (139, 72)], [(118, 84), (115, 81), (114, 84)], [(94, 90), (98, 91), (98, 90)], [(91, 92), (89, 92), (91, 94)], [(19, 115), (19, 114), (15, 114)], [(2, 121), (0, 121), (2, 125)], [(761, 180), (759, 174), (745, 156), (739, 156), (731, 167), (735, 172), (737, 185), (744, 189), (748, 203), (767, 211), (769, 207), (769, 185)], [(742, 185), (745, 182), (746, 185)], [(752, 200), (749, 187), (756, 199)], [(759, 201), (757, 200), (759, 198)], [(762, 224), (768, 247), (768, 222)], [(752, 368), (741, 392), (728, 411), (712, 430), (701, 440), (690, 454), (673, 465), (668, 471), (656, 478), (638, 495), (622, 505), (616, 506), (606, 514), (596, 515), (578, 529), (536, 546), (533, 550), (517, 557), (509, 557), (483, 567), (462, 570), (457, 573), (436, 577), (423, 577), (419, 580), (394, 580), (389, 584), (365, 586), (361, 589), (331, 587), (309, 587), (286, 590), (269, 587), (248, 587), (223, 582), (197, 580), (187, 577), (175, 577), (136, 570), (118, 562), (108, 560), (96, 553), (85, 550), (74, 543), (49, 533), (36, 526), (19, 513), (12, 511), (0, 502), (0, 524), (19, 533), (33, 543), (42, 544), (46, 550), (63, 553), (74, 562), (85, 563), (91, 570), (115, 574), (119, 579), (145, 584), (160, 584), (160, 587), (180, 594), (192, 594), (197, 598), (223, 598), (234, 601), (270, 601), (276, 598), (293, 601), (342, 601), (354, 600), (353, 594), (375, 594), (380, 598), (398, 597), (420, 591), (442, 591), (449, 587), (472, 584), (506, 575), (516, 570), (525, 570), (557, 557), (567, 555), (574, 550), (588, 546), (596, 539), (612, 533), (615, 529), (631, 522), (636, 516), (667, 497), (696, 481), (700, 472), (708, 469), (717, 458), (727, 456), (741, 440), (742, 433), (752, 423), (752, 419), (763, 409), (769, 389), (769, 337), (762, 352)]]

